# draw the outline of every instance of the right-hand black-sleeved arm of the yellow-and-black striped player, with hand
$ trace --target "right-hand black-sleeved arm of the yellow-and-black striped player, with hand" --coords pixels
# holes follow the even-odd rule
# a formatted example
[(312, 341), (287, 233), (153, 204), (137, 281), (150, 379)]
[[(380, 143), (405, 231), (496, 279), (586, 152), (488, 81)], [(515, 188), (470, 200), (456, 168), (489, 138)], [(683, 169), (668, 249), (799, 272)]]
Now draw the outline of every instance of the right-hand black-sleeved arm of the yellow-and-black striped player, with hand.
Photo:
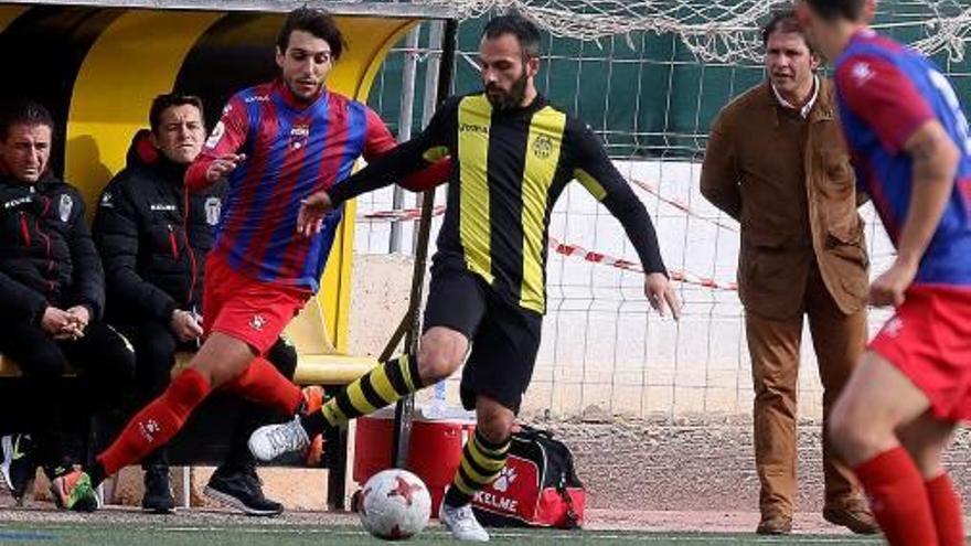
[(668, 268), (664, 267), (658, 245), (658, 234), (648, 211), (613, 167), (593, 131), (584, 127), (575, 135), (579, 135), (574, 142), (575, 178), (623, 226), (644, 269), (644, 296), (648, 302), (662, 315), (670, 310), (675, 320), (680, 319), (681, 301), (668, 278)]

